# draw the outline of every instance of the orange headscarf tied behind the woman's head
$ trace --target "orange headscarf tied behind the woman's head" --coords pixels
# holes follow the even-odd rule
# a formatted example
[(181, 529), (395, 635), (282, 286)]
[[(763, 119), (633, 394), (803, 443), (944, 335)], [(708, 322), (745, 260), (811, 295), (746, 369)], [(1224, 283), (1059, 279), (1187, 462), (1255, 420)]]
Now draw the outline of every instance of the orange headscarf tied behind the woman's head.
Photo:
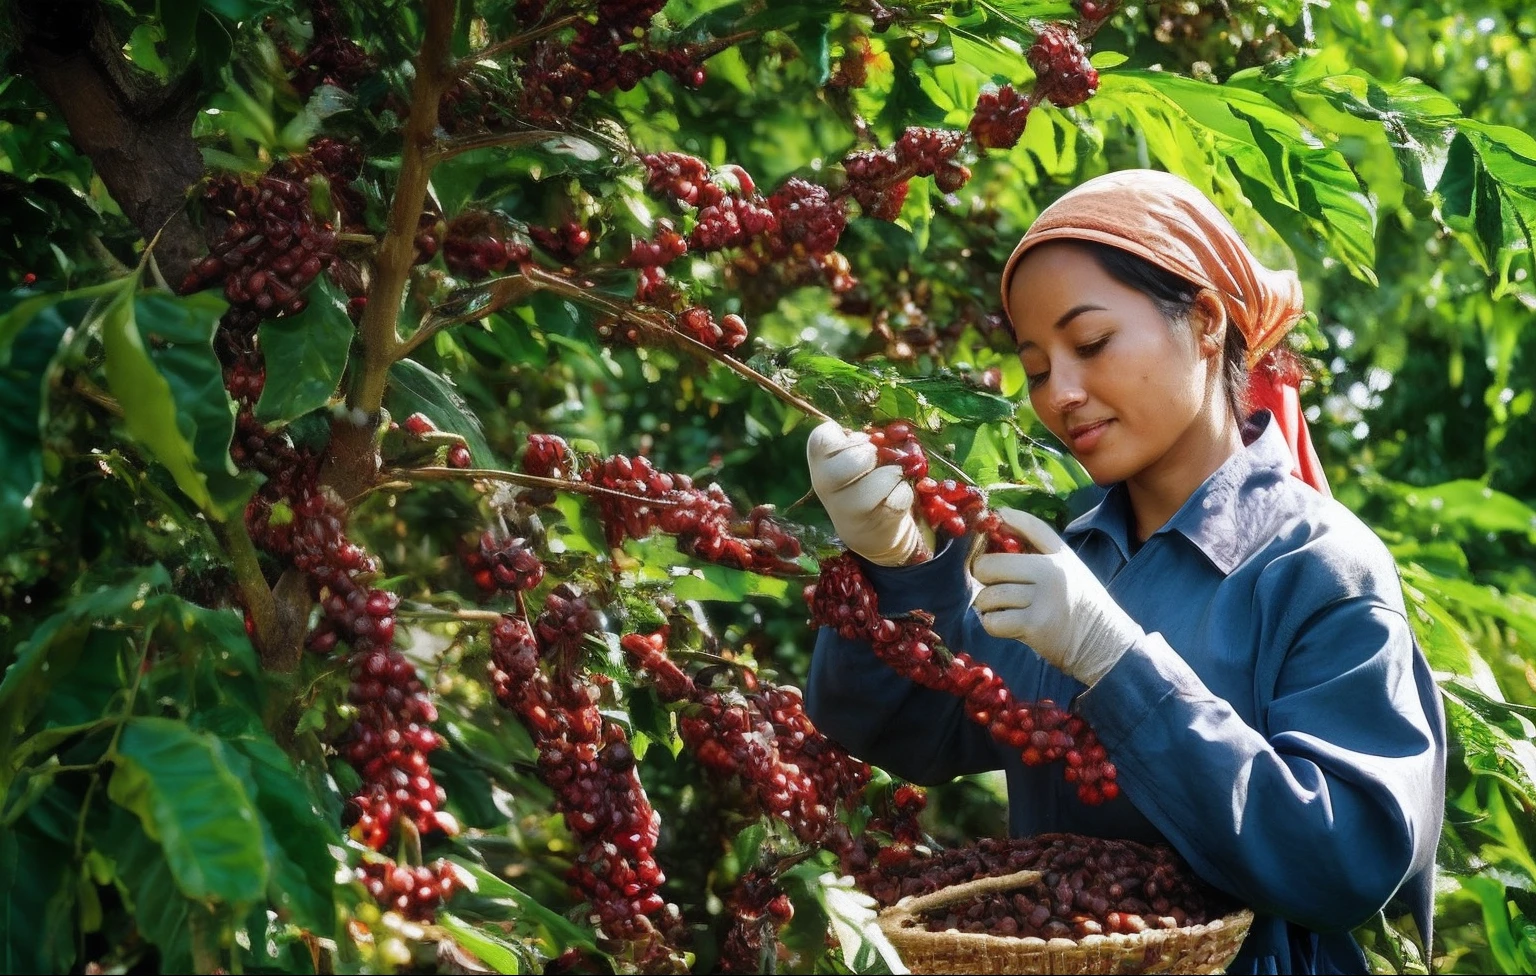
[(1003, 312), (1009, 312), (1009, 280), (1018, 260), (1035, 244), (1054, 240), (1109, 244), (1215, 290), (1227, 321), (1247, 340), (1250, 406), (1275, 415), (1296, 458), (1292, 473), (1329, 493), (1301, 413), (1298, 377), (1261, 366), (1301, 318), (1295, 272), (1260, 264), (1232, 221), (1187, 180), (1155, 169), (1126, 169), (1095, 177), (1041, 211), (1003, 266)]

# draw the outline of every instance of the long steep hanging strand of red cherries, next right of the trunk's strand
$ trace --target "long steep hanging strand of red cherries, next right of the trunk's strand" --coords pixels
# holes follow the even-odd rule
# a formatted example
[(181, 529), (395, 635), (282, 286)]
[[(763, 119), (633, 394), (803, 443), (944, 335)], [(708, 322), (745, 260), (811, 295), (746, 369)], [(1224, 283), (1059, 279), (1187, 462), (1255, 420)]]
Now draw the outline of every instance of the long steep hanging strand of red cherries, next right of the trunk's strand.
[(581, 638), (598, 626), (568, 584), (550, 595), (535, 626), (504, 615), (490, 635), (492, 690), (533, 736), (539, 778), (554, 790), (581, 845), (567, 881), (591, 902), (608, 938), (665, 956), (664, 935), (680, 916), (660, 896), (660, 818), (641, 785), (628, 738), (598, 710), (598, 689), (578, 661)]

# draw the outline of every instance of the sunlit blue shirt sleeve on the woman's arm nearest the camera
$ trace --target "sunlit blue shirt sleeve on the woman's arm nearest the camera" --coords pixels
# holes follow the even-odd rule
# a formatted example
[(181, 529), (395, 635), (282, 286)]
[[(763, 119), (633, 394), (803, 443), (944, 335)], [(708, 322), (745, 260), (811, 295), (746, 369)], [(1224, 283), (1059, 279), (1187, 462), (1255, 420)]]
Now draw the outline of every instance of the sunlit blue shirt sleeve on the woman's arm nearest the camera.
[[(1126, 795), (1212, 884), (1316, 931), (1433, 870), (1436, 690), (1402, 612), (1349, 596), (1289, 641), (1255, 729), (1157, 633), (1080, 696)], [(1267, 670), (1267, 673), (1266, 673)]]

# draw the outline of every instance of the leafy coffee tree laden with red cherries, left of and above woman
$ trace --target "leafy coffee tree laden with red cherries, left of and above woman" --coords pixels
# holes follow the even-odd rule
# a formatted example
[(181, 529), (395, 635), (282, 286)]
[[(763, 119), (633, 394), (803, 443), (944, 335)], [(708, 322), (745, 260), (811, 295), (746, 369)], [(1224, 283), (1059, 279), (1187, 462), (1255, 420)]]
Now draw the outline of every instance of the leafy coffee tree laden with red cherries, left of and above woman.
[[(1536, 143), (1353, 66), (1352, 11), (5, 9), (15, 970), (899, 965), (860, 890), (958, 832), (808, 721), (811, 622), (1087, 801), (1114, 756), (879, 616), (805, 421), (877, 426), (940, 535), (1072, 510), (995, 269), (1106, 168), (1192, 178), (1326, 294), (1409, 229), (1530, 295)], [(1447, 908), (1496, 924), (1433, 951), (1521, 971), (1536, 610), (1399, 556), (1462, 747)]]

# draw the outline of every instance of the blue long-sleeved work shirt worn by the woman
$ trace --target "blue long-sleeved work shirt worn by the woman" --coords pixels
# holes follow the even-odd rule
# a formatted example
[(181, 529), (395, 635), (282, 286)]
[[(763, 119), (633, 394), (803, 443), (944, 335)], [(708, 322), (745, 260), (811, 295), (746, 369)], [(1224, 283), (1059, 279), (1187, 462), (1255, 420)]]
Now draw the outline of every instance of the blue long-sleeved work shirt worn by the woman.
[(1290, 476), (1269, 413), (1250, 433), (1140, 547), (1124, 484), (1063, 533), (1146, 630), (1092, 689), (982, 629), (969, 539), (917, 566), (865, 563), (882, 613), (928, 610), (952, 650), (1018, 699), (1075, 702), (1118, 769), (1120, 799), (1084, 805), (1060, 764), (1023, 765), (960, 698), (828, 627), (806, 709), (854, 755), (915, 782), (1005, 770), (1014, 836), (1170, 844), (1253, 910), (1229, 973), (1364, 973), (1350, 928), (1389, 901), (1430, 939), (1445, 718), (1385, 546)]

